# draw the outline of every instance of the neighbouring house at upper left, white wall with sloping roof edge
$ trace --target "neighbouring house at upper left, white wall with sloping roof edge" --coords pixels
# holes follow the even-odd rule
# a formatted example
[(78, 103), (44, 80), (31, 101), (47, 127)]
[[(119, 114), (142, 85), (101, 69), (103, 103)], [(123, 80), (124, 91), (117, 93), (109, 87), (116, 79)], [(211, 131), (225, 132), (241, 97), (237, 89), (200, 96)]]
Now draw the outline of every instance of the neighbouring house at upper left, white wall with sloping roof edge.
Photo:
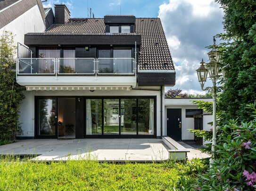
[(0, 0), (0, 35), (13, 32), (15, 46), (28, 32), (43, 32), (46, 15), (41, 0)]

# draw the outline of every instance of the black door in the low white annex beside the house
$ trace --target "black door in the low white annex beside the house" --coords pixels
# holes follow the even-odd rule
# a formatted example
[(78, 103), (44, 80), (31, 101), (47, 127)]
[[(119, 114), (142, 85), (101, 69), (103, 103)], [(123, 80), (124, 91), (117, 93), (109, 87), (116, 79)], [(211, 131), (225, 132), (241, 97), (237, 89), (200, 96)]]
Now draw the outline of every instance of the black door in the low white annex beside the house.
[(182, 140), (182, 109), (167, 109), (167, 136)]

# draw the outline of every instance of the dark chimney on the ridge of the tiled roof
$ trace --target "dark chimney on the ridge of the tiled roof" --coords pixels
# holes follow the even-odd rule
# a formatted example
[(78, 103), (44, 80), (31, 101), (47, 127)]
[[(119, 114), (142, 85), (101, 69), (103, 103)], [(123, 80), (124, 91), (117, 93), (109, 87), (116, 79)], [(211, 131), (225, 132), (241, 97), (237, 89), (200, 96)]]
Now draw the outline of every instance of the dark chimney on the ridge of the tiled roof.
[(66, 5), (54, 5), (55, 9), (55, 24), (64, 24), (70, 18), (70, 12)]

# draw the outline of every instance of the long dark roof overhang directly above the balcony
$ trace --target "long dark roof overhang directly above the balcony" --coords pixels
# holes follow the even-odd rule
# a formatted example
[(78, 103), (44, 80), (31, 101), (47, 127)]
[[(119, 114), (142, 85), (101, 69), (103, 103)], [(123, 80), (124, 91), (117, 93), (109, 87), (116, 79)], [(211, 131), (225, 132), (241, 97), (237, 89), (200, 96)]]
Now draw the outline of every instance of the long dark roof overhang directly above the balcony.
[(137, 45), (141, 43), (141, 35), (137, 33), (27, 33), (24, 43), (36, 45)]

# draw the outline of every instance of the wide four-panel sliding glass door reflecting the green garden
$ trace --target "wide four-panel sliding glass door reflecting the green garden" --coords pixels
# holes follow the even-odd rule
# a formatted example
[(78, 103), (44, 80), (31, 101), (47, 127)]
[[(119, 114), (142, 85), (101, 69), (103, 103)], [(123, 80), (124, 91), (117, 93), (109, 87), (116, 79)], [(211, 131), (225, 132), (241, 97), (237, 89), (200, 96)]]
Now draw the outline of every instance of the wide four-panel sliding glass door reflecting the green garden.
[(154, 136), (154, 98), (86, 98), (86, 136)]

